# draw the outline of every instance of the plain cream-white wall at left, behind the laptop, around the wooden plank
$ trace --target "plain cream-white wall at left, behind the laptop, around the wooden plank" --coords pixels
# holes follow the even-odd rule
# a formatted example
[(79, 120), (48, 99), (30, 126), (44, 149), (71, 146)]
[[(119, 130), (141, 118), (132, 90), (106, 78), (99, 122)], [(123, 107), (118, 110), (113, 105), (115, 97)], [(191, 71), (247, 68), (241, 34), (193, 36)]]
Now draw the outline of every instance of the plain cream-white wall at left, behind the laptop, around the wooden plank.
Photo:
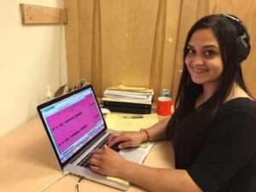
[(0, 0), (0, 137), (34, 117), (45, 86), (67, 83), (64, 26), (22, 26), (20, 3), (61, 7), (62, 0)]

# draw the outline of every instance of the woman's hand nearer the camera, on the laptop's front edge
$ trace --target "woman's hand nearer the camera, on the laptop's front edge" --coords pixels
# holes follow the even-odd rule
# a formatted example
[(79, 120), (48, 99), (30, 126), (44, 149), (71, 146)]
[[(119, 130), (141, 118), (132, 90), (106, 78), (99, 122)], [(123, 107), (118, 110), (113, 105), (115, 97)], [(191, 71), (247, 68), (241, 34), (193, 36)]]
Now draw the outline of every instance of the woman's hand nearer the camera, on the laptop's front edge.
[(119, 177), (124, 171), (124, 166), (127, 161), (113, 149), (104, 148), (96, 149), (90, 158), (90, 170), (113, 177)]

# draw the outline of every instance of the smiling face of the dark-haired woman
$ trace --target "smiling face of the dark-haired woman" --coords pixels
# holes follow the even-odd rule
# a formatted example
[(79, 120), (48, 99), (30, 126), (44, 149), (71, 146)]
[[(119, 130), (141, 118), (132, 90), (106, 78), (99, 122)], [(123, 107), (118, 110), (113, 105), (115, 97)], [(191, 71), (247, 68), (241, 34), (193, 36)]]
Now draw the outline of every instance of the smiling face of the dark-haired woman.
[(212, 29), (200, 29), (194, 32), (187, 46), (185, 64), (195, 84), (218, 86), (223, 72), (223, 62)]

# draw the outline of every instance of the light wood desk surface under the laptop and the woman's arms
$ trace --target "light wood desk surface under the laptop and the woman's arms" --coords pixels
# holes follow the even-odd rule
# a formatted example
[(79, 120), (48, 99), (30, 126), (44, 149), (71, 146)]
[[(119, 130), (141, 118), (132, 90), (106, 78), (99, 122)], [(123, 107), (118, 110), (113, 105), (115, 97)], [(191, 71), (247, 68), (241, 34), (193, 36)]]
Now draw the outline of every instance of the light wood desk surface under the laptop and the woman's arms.
[[(172, 147), (167, 142), (156, 143), (144, 164), (155, 167), (173, 165)], [(38, 192), (61, 176), (49, 139), (40, 119), (34, 118), (5, 137), (0, 137), (0, 191)], [(145, 176), (146, 177), (146, 176)], [(68, 175), (45, 192), (76, 192), (78, 177)], [(80, 192), (118, 192), (99, 183), (83, 180)], [(145, 191), (131, 185), (128, 192)]]

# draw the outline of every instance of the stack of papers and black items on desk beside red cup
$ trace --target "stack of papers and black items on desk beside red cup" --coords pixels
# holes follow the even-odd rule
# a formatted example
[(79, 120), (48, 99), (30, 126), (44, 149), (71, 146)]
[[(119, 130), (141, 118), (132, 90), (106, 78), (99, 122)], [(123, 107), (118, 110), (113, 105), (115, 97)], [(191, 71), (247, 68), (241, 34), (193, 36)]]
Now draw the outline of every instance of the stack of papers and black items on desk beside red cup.
[(151, 113), (154, 90), (119, 85), (103, 92), (103, 107), (113, 112)]

